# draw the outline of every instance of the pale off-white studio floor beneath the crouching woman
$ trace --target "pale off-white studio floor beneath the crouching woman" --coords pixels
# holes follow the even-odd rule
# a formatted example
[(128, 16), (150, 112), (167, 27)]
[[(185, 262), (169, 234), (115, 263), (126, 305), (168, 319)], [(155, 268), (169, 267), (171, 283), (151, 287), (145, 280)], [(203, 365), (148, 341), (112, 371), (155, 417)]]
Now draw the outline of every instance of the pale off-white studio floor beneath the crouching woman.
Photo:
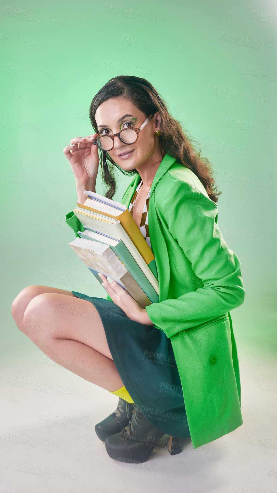
[[(2, 341), (0, 492), (277, 492), (276, 356), (257, 340), (251, 347), (239, 325), (242, 426), (198, 449), (188, 440), (173, 457), (156, 447), (138, 465), (110, 459), (94, 431), (118, 398), (12, 328)], [(269, 341), (275, 332), (265, 332)]]

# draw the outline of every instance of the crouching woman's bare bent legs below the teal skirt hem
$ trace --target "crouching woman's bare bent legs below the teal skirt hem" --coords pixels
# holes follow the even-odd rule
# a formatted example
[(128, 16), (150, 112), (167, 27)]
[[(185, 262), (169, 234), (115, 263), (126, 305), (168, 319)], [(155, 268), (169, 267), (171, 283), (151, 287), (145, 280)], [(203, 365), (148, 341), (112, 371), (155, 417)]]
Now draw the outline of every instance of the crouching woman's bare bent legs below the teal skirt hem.
[[(85, 380), (110, 391), (123, 387), (108, 349), (101, 317), (94, 305), (69, 291), (29, 286), (33, 288), (33, 294), (37, 293), (37, 287), (49, 291), (32, 297), (31, 289), (28, 293), (31, 301), (28, 304), (28, 299), (23, 301), (22, 294), (14, 300), (12, 308), (15, 321), (21, 327), (23, 324), (31, 341), (48, 357)], [(24, 304), (27, 306), (22, 320), (20, 311), (23, 312)]]

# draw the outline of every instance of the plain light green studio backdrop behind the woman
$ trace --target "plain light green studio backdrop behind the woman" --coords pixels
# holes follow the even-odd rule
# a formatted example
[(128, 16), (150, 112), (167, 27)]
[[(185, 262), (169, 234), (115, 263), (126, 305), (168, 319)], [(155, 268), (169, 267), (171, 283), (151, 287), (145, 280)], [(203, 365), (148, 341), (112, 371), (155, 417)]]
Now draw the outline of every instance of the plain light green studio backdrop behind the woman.
[[(22, 361), (23, 350), (27, 359), (39, 351), (10, 313), (25, 286), (104, 297), (68, 245), (75, 236), (64, 218), (77, 196), (63, 148), (73, 137), (92, 133), (88, 110), (104, 83), (130, 74), (156, 87), (212, 163), (222, 191), (218, 225), (242, 263), (245, 301), (231, 313), (241, 369), (246, 361), (257, 367), (269, 363), (253, 377), (253, 392), (263, 397), (258, 386), (261, 379), (274, 382), (270, 362), (277, 341), (276, 10), (272, 1), (249, 0), (47, 5), (26, 0), (0, 8), (1, 314), (7, 362), (13, 354)], [(129, 179), (120, 176), (115, 200)], [(99, 178), (96, 191), (104, 193)]]

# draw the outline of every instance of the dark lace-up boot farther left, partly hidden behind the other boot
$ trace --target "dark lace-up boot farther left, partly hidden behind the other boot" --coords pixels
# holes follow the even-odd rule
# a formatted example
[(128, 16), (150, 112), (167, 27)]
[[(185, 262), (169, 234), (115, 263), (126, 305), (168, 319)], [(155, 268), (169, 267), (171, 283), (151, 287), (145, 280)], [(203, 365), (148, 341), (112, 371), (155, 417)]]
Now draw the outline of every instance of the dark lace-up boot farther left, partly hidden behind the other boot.
[(105, 418), (101, 423), (95, 425), (97, 436), (104, 442), (107, 436), (122, 431), (131, 419), (134, 404), (119, 398), (116, 410)]

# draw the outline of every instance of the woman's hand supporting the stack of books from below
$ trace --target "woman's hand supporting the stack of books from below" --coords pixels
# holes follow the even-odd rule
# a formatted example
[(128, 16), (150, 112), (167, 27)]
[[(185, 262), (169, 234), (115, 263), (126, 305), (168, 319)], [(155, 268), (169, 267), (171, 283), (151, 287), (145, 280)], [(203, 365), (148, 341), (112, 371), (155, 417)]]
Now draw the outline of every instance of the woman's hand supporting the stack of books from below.
[(111, 280), (109, 283), (103, 274), (99, 274), (104, 284), (104, 288), (112, 301), (126, 313), (127, 317), (144, 325), (154, 325), (147, 315), (146, 309), (141, 308), (134, 298), (121, 287), (117, 282)]

